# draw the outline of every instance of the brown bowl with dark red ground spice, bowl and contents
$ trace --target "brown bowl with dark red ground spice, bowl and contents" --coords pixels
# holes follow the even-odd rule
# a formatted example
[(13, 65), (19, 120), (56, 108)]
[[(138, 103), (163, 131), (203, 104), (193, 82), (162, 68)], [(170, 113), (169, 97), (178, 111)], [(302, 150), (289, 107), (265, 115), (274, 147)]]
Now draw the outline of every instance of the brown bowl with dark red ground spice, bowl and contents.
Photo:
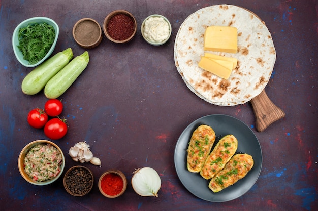
[(114, 43), (127, 43), (137, 32), (137, 21), (128, 11), (115, 10), (106, 16), (103, 31)]

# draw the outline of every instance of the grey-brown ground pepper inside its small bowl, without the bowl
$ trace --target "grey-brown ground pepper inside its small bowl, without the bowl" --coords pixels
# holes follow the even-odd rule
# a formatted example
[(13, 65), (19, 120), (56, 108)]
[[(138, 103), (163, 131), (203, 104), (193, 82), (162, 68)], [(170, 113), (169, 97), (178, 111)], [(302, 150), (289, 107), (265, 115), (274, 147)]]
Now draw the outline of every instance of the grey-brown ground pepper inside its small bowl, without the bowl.
[(96, 23), (85, 20), (76, 26), (74, 33), (80, 44), (89, 46), (99, 39), (100, 28)]

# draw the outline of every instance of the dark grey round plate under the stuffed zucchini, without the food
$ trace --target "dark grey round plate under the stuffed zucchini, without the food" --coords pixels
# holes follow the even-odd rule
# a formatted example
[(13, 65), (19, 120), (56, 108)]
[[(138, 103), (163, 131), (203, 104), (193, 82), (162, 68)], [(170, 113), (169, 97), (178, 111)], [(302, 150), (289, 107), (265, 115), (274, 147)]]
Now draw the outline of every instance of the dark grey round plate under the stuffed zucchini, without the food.
[[(215, 131), (214, 145), (221, 137), (233, 134), (238, 140), (237, 153), (247, 153), (254, 160), (253, 168), (243, 179), (218, 193), (213, 193), (208, 188), (210, 180), (205, 180), (199, 173), (191, 173), (186, 168), (188, 143), (194, 130), (201, 124), (209, 125)], [(211, 202), (230, 201), (245, 194), (259, 178), (262, 160), (261, 146), (252, 130), (239, 119), (221, 114), (204, 116), (190, 123), (180, 135), (174, 152), (174, 164), (181, 183), (195, 196)]]

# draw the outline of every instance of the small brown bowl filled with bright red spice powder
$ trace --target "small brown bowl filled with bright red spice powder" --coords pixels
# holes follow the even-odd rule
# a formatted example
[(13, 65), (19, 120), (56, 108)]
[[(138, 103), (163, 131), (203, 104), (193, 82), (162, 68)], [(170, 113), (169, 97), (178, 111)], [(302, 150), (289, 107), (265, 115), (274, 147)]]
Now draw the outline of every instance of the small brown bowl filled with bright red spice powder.
[(119, 170), (108, 170), (100, 177), (98, 188), (105, 197), (116, 198), (127, 188), (126, 176)]

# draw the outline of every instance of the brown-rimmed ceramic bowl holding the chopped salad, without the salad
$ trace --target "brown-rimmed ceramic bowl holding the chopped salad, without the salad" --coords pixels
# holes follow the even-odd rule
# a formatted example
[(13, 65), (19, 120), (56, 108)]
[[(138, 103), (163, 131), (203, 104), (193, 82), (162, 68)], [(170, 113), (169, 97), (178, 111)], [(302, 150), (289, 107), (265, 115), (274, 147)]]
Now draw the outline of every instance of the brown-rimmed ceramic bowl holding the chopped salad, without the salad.
[[(24, 158), (26, 156), (26, 153), (29, 151), (29, 149), (31, 149), (32, 147), (38, 145), (38, 144), (51, 144), (53, 145), (58, 151), (59, 153), (62, 155), (62, 163), (60, 165), (60, 173), (52, 180), (46, 180), (43, 182), (38, 182), (38, 181), (34, 181), (33, 178), (30, 178), (24, 171)], [(62, 174), (63, 170), (65, 167), (65, 157), (64, 154), (62, 152), (62, 150), (53, 142), (51, 141), (47, 141), (47, 140), (36, 140), (33, 142), (30, 142), (29, 144), (27, 144), (22, 151), (20, 152), (19, 158), (18, 158), (18, 168), (19, 168), (19, 172), (21, 174), (21, 176), (29, 183), (33, 184), (33, 185), (48, 185), (53, 183), (54, 181), (56, 181)]]

